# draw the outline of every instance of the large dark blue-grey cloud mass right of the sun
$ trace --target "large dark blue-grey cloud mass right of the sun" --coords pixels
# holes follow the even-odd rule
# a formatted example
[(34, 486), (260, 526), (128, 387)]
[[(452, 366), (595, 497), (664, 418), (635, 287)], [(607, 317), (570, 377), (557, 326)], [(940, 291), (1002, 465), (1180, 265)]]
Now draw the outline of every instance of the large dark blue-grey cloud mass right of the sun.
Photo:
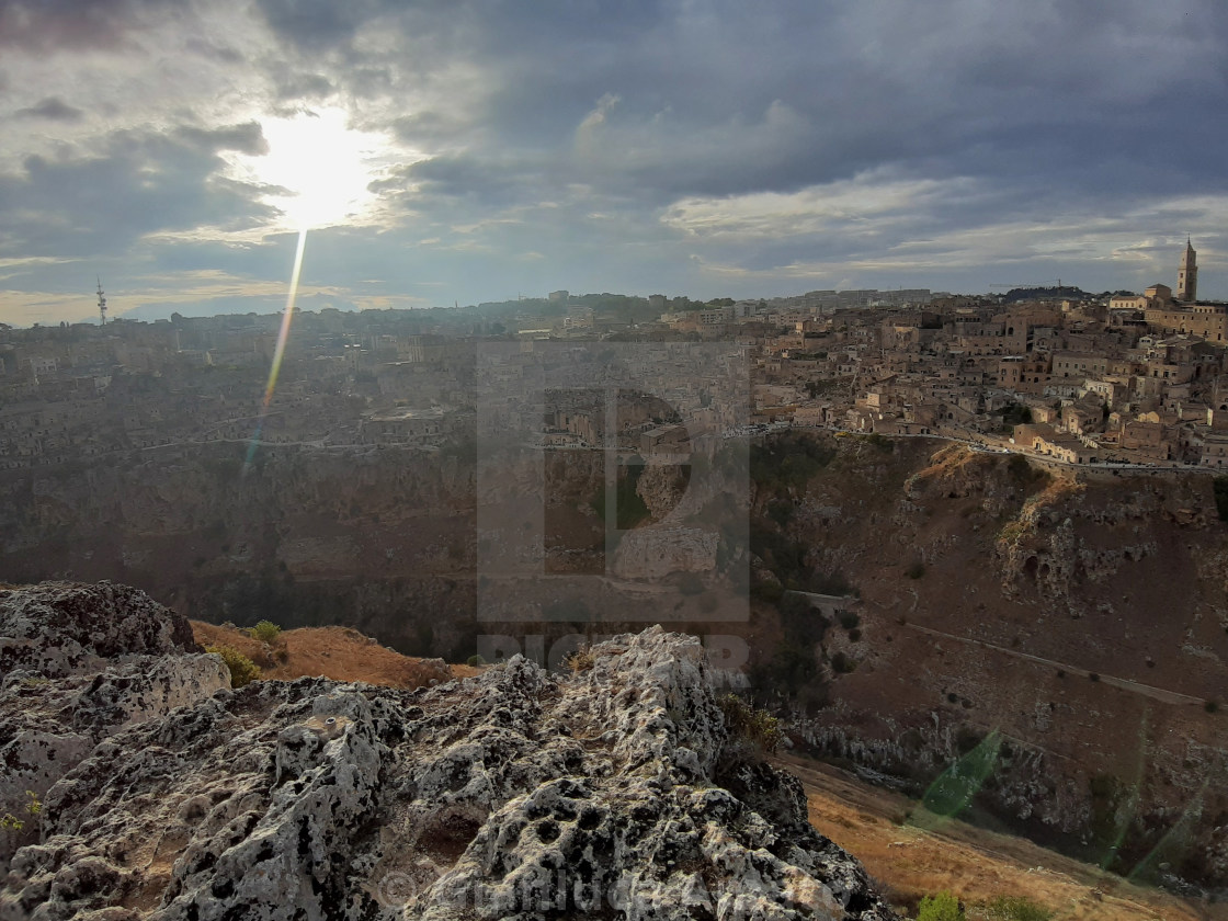
[[(616, 103), (588, 131), (594, 156), (565, 178), (629, 195), (787, 190), (885, 163), (1029, 183), (1045, 162), (1038, 147), (1059, 171), (1049, 184), (1082, 181), (1088, 161), (1213, 169), (1206, 145), (1224, 129), (1195, 113), (1222, 104), (1223, 16), (1206, 4), (1187, 22), (1153, 5), (1095, 6), (570, 4), (478, 15), (453, 4), (381, 22), (404, 23), (415, 71), (457, 54), (485, 70), (467, 111), (393, 123), (406, 142), (467, 141), (479, 184), (508, 147), (570, 145), (608, 96)], [(328, 23), (313, 20), (313, 41)], [(349, 41), (356, 28), (348, 20), (336, 34)], [(1151, 42), (1184, 60), (1142, 54)], [(389, 58), (365, 60), (365, 91), (376, 74), (395, 85), (389, 68), (404, 61)], [(1162, 141), (1153, 128), (1183, 119), (1195, 144)], [(484, 144), (465, 133), (473, 124)]]

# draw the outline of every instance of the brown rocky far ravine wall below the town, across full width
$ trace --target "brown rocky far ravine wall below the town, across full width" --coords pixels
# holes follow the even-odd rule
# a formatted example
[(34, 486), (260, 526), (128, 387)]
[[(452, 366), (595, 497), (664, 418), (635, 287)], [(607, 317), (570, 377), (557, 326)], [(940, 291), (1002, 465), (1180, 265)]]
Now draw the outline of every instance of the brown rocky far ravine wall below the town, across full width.
[[(1210, 478), (1044, 472), (926, 438), (786, 435), (756, 442), (752, 457), (764, 448), (779, 469), (754, 475), (750, 621), (712, 626), (700, 602), (734, 591), (721, 585), (683, 614), (698, 632), (747, 640), (752, 677), (799, 739), (920, 792), (998, 729), (1009, 755), (976, 804), (1046, 840), (1086, 844), (1097, 861), (1126, 853), (1119, 869), (1176, 829), (1192, 849), (1156, 862), (1228, 877), (1217, 818), (1228, 814), (1218, 792), (1228, 788), (1228, 527)], [(239, 479), (230, 449), (85, 475), (6, 472), (0, 567), (29, 578), (122, 572), (193, 616), (340, 623), (403, 652), (476, 652), (470, 468), (394, 448), (276, 448)], [(577, 454), (551, 474), (546, 513), (569, 546), (599, 532), (596, 470)], [(529, 479), (513, 469), (490, 485), (517, 496)], [(646, 470), (636, 495), (666, 513), (675, 480)], [(707, 499), (683, 494), (668, 516), (684, 522), (668, 537), (628, 532), (618, 571), (659, 575), (720, 556), (685, 524)], [(791, 586), (856, 589), (858, 625), (788, 609), (796, 597), (774, 596)], [(603, 620), (609, 632), (626, 628)], [(577, 632), (562, 621), (537, 629), (546, 648)]]

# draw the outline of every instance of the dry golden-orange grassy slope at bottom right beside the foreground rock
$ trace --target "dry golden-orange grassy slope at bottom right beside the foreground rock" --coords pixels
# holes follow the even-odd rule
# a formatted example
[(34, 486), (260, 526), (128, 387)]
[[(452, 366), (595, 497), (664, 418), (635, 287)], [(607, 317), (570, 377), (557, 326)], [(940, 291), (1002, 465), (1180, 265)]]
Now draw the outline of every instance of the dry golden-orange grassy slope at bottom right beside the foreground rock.
[(1228, 906), (1132, 885), (1027, 839), (957, 820), (901, 824), (917, 808), (907, 797), (820, 761), (792, 755), (777, 761), (802, 780), (810, 823), (856, 855), (893, 904), (912, 907), (921, 895), (949, 889), (969, 906), (969, 921), (984, 917), (976, 903), (997, 895), (1025, 895), (1051, 909), (1052, 921), (1228, 919)]

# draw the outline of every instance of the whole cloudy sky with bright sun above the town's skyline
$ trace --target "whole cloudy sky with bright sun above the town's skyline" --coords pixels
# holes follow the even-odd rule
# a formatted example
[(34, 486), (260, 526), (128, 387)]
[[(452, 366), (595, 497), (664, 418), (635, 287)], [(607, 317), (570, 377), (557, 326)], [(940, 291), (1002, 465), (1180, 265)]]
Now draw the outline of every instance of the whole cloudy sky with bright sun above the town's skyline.
[[(1228, 298), (1222, 0), (0, 0), (0, 322)], [(1002, 286), (995, 287), (995, 286)]]

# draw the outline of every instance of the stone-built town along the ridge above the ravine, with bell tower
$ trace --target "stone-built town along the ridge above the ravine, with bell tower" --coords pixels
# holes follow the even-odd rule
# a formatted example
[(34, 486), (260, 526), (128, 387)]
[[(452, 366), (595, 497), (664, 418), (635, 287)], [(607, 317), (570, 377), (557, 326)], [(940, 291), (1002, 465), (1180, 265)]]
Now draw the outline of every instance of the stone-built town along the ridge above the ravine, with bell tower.
[[(511, 366), (527, 366), (542, 344), (592, 340), (712, 343), (744, 362), (740, 411), (720, 411), (731, 405), (712, 400), (723, 378), (702, 363), (693, 386), (670, 389), (698, 445), (818, 426), (957, 438), (1068, 464), (1228, 464), (1228, 305), (1197, 300), (1190, 244), (1175, 292), (812, 291), (696, 303), (555, 291), (454, 311), (301, 311), (265, 408), (280, 324), (253, 313), (0, 325), (0, 469), (134, 449), (187, 454), (253, 436), (266, 446), (437, 451), (473, 437), (483, 344), (519, 343)], [(673, 381), (678, 356), (661, 359)], [(591, 424), (570, 419), (570, 435)], [(636, 419), (648, 442), (669, 438), (661, 421)], [(558, 443), (567, 425), (548, 419), (546, 433)]]

